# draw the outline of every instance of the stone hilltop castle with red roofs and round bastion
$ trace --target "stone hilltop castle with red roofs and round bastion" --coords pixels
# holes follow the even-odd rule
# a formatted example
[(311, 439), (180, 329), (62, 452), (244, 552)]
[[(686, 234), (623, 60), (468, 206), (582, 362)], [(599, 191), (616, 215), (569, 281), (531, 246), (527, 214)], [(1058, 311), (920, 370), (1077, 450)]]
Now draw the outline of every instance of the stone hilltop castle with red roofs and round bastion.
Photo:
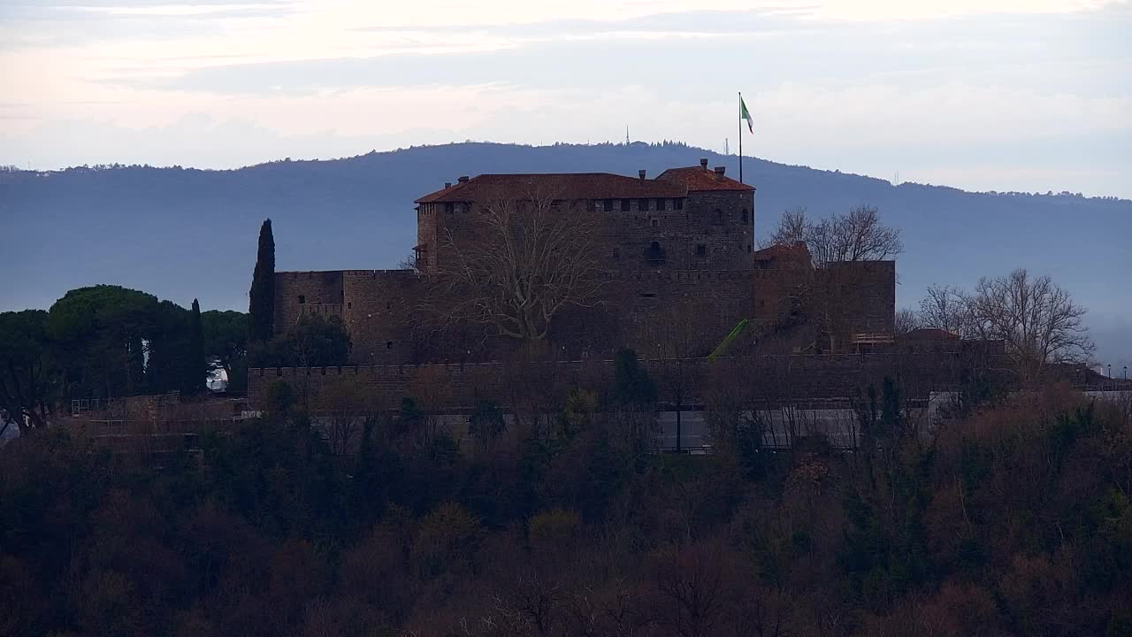
[[(560, 360), (608, 359), (621, 347), (657, 347), (650, 325), (692, 325), (703, 356), (737, 324), (746, 353), (860, 351), (893, 332), (895, 266), (891, 261), (833, 264), (838, 316), (815, 301), (814, 269), (804, 245), (755, 249), (755, 188), (707, 160), (655, 178), (611, 173), (481, 175), (417, 199), (414, 267), (277, 272), (275, 329), (303, 315), (341, 317), (352, 365), (507, 360), (516, 339), (457, 325), (422, 328), (436, 281), (461, 258), (460, 246), (484, 239), (484, 212), (500, 197), (541, 193), (557, 215), (597, 219), (590, 303), (561, 305), (543, 342)], [(466, 323), (466, 322), (465, 322)], [(737, 351), (737, 353), (738, 353)], [(657, 355), (657, 353), (653, 353)]]

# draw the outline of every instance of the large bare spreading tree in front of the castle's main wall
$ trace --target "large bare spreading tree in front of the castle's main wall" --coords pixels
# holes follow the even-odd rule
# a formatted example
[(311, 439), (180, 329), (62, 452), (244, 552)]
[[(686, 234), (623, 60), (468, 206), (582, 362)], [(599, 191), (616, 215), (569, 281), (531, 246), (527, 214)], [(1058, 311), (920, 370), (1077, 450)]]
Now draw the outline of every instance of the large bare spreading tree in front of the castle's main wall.
[(582, 202), (532, 188), (484, 197), (472, 214), (471, 231), (441, 239), (428, 301), (441, 326), (472, 323), (487, 336), (538, 341), (561, 309), (600, 303), (604, 237)]

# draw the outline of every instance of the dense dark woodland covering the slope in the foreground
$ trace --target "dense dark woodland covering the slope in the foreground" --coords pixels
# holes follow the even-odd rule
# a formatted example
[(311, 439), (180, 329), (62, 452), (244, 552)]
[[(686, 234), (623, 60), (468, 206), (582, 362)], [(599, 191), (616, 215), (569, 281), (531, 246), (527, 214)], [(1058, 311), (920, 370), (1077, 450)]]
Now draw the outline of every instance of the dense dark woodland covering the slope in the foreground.
[(714, 455), (654, 453), (628, 363), (544, 426), (404, 397), (344, 447), (276, 385), (162, 470), (40, 430), (0, 448), (0, 634), (1132, 635), (1132, 406), (1045, 387), (923, 435), (874, 389), (855, 453), (726, 401)]

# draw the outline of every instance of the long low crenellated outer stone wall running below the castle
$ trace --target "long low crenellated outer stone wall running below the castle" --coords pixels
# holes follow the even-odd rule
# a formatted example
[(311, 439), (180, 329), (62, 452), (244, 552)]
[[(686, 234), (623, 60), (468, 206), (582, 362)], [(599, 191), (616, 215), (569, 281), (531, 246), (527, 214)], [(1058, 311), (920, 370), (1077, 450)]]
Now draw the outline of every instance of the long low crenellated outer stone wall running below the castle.
[[(688, 405), (704, 404), (720, 391), (764, 402), (852, 398), (865, 396), (869, 387), (880, 391), (886, 376), (897, 380), (906, 398), (927, 398), (932, 391), (955, 389), (962, 373), (962, 359), (954, 355), (761, 356), (643, 364), (657, 381), (662, 402), (672, 401), (666, 380), (680, 374), (691, 388)], [(248, 401), (263, 408), (267, 388), (283, 382), (311, 409), (335, 408), (334, 400), (345, 394), (389, 408), (412, 396), (430, 409), (460, 410), (479, 399), (514, 405), (541, 396), (552, 402), (572, 387), (604, 393), (612, 375), (611, 360), (264, 368), (249, 371)]]

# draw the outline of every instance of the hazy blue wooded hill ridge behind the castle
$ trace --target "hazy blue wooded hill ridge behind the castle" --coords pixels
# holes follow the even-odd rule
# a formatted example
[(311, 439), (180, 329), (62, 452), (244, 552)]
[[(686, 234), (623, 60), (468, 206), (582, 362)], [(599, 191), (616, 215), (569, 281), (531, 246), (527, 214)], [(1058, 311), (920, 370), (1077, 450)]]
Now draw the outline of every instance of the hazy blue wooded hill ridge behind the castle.
[[(151, 167), (0, 173), (0, 311), (48, 307), (66, 290), (118, 283), (205, 308), (247, 308), (256, 233), (271, 216), (280, 270), (396, 267), (415, 244), (412, 201), (482, 172), (609, 171), (650, 177), (737, 158), (684, 144), (464, 143), (239, 170)], [(1132, 360), (1132, 202), (955, 188), (748, 159), (756, 233), (781, 212), (872, 204), (903, 229), (898, 303), (931, 283), (971, 287), (1015, 266), (1048, 273), (1090, 309), (1098, 358)]]

